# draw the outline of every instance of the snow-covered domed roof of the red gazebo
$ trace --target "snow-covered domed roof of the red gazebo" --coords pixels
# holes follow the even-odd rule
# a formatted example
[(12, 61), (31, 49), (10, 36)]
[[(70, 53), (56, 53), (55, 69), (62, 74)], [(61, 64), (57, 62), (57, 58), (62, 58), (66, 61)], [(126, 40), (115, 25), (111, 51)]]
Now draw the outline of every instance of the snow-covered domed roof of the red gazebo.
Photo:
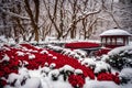
[(120, 30), (120, 29), (108, 30), (100, 34), (100, 36), (120, 36), (120, 35), (131, 36), (132, 34), (130, 34), (129, 32), (124, 30)]

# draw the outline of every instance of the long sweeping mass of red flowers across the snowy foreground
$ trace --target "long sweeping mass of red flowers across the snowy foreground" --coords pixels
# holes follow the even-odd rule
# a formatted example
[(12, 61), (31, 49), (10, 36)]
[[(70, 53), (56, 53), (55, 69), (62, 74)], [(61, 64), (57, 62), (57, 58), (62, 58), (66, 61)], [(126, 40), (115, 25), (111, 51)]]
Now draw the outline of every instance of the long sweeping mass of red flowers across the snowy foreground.
[[(85, 46), (87, 46), (86, 43)], [(46, 53), (41, 53), (42, 51), (46, 51)], [(8, 61), (3, 61), (6, 55), (9, 57)], [(55, 58), (54, 58), (55, 56)], [(75, 88), (82, 88), (85, 84), (85, 78), (89, 77), (90, 79), (95, 79), (94, 70), (90, 67), (82, 66), (77, 59), (72, 57), (62, 55), (54, 51), (37, 48), (30, 44), (21, 44), (19, 47), (11, 47), (4, 45), (0, 51), (0, 78), (6, 77), (11, 73), (18, 73), (19, 67), (26, 67), (28, 69), (37, 69), (40, 66), (44, 67), (45, 63), (48, 65), (55, 64), (54, 68), (61, 68), (64, 65), (69, 65), (74, 69), (81, 69), (82, 75), (70, 75), (68, 77), (68, 81)], [(111, 80), (117, 84), (120, 82), (119, 77), (117, 75), (102, 73), (97, 77), (98, 80)], [(4, 86), (4, 82), (0, 82), (0, 85)]]

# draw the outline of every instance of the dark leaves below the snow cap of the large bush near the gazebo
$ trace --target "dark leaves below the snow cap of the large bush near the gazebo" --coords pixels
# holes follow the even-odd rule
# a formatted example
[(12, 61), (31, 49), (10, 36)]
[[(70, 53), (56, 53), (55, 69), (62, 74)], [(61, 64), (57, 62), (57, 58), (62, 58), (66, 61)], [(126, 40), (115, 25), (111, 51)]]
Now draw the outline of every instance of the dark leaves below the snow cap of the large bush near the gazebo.
[(119, 54), (110, 55), (108, 63), (118, 69), (132, 67), (132, 51), (121, 51)]

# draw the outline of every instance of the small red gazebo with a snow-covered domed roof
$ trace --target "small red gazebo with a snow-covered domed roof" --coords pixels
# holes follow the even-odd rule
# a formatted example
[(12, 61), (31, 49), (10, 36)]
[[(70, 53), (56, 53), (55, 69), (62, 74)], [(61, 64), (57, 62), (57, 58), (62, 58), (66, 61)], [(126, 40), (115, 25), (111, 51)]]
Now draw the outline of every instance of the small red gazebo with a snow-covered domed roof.
[(101, 44), (110, 48), (129, 44), (129, 36), (131, 36), (129, 32), (120, 29), (108, 30), (100, 34)]

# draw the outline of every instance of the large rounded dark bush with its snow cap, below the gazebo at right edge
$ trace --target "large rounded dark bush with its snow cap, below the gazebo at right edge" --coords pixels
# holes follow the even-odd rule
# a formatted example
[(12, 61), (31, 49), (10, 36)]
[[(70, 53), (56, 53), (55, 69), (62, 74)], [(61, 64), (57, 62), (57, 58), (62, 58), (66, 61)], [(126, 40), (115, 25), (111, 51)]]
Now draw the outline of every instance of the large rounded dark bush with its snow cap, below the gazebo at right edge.
[(132, 46), (121, 46), (113, 48), (108, 53), (107, 61), (111, 66), (122, 69), (124, 67), (132, 67)]

